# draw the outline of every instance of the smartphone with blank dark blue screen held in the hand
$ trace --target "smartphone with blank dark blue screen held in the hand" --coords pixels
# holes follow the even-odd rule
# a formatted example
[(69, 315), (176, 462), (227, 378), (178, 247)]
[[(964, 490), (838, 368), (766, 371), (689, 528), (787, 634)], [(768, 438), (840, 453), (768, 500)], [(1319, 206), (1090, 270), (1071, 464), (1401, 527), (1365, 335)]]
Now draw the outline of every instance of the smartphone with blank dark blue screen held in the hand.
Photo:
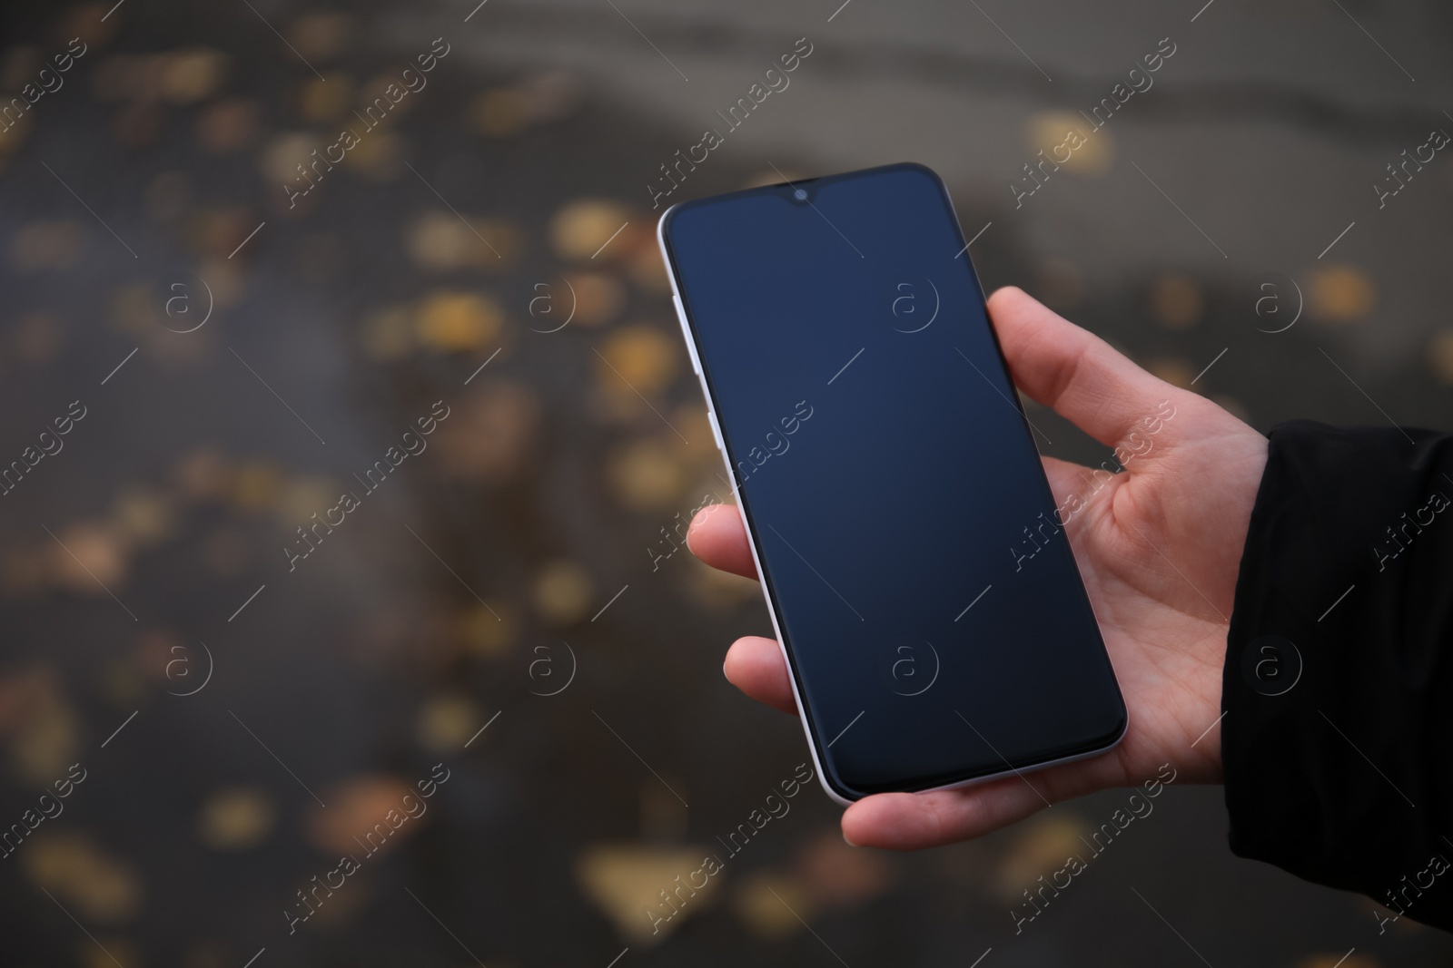
[(1125, 702), (939, 176), (681, 202), (657, 235), (828, 795), (1114, 746)]

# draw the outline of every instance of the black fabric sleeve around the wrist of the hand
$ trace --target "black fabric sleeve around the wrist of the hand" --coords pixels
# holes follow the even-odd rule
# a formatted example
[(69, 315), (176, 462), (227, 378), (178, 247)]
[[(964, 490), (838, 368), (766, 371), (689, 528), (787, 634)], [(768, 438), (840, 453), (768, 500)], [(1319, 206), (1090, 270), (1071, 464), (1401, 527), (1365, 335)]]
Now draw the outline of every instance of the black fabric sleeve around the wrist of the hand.
[(1231, 849), (1453, 929), (1453, 437), (1271, 431), (1226, 636)]

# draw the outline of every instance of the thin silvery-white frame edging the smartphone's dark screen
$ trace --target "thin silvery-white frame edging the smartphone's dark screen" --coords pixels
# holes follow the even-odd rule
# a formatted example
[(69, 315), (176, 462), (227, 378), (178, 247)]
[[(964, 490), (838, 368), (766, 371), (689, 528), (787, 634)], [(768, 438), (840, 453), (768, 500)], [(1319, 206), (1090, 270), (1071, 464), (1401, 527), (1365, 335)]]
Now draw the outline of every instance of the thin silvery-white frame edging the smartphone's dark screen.
[[(934, 174), (934, 177), (937, 177), (937, 174)], [(693, 200), (700, 200), (700, 199), (693, 199)], [(953, 210), (953, 199), (949, 197), (947, 192), (944, 192), (944, 200), (949, 203), (949, 210), (953, 215), (955, 225), (958, 225), (959, 223), (959, 215), (958, 215), (958, 212)], [(856, 803), (856, 801), (847, 800), (846, 797), (843, 797), (841, 794), (838, 794), (835, 789), (833, 789), (833, 787), (830, 787), (828, 782), (827, 782), (827, 774), (822, 771), (822, 759), (818, 755), (817, 739), (812, 736), (812, 727), (808, 724), (808, 717), (806, 717), (806, 713), (805, 713), (804, 704), (802, 704), (802, 694), (798, 691), (796, 666), (792, 662), (792, 656), (788, 655), (786, 644), (783, 644), (782, 624), (777, 621), (777, 607), (776, 607), (776, 602), (772, 601), (772, 591), (767, 588), (767, 583), (761, 581), (761, 557), (757, 553), (757, 536), (753, 534), (751, 522), (747, 521), (747, 512), (742, 509), (742, 505), (741, 505), (741, 493), (740, 493), (740, 485), (737, 483), (737, 472), (735, 472), (735, 469), (731, 464), (731, 454), (726, 453), (726, 441), (722, 437), (721, 427), (716, 422), (716, 401), (712, 399), (712, 390), (706, 385), (706, 373), (702, 369), (700, 358), (696, 356), (696, 337), (692, 332), (692, 324), (690, 324), (690, 321), (686, 318), (686, 303), (681, 302), (681, 292), (680, 292), (680, 289), (677, 289), (676, 266), (671, 263), (671, 251), (670, 251), (670, 248), (665, 244), (665, 219), (667, 219), (667, 216), (671, 215), (671, 212), (674, 212), (681, 205), (684, 205), (684, 202), (677, 202), (676, 205), (670, 206), (665, 212), (661, 212), (661, 218), (657, 219), (657, 223), (655, 223), (655, 241), (657, 241), (657, 245), (660, 245), (660, 248), (661, 248), (661, 258), (665, 263), (667, 279), (671, 280), (671, 305), (676, 306), (676, 318), (681, 324), (681, 335), (686, 338), (686, 351), (692, 357), (692, 369), (696, 372), (696, 380), (702, 385), (702, 395), (706, 398), (706, 419), (711, 422), (712, 438), (716, 443), (716, 450), (718, 450), (718, 453), (721, 453), (722, 463), (726, 466), (726, 475), (728, 475), (728, 480), (731, 482), (732, 495), (737, 499), (737, 517), (741, 518), (741, 527), (747, 533), (747, 547), (751, 549), (751, 562), (753, 562), (753, 566), (756, 566), (756, 569), (757, 569), (757, 579), (758, 579), (757, 585), (761, 588), (761, 596), (767, 602), (767, 615), (772, 618), (772, 631), (773, 631), (773, 634), (777, 639), (777, 649), (782, 652), (782, 660), (788, 666), (788, 682), (792, 685), (792, 700), (796, 702), (796, 707), (798, 707), (798, 720), (801, 720), (801, 723), (802, 723), (802, 731), (804, 731), (804, 734), (808, 739), (808, 750), (812, 753), (812, 768), (817, 771), (818, 782), (822, 785), (822, 791), (834, 803), (837, 803), (837, 804), (840, 804), (843, 807), (851, 807), (853, 803)], [(960, 235), (962, 235), (962, 229), (960, 229)], [(974, 276), (975, 276), (975, 284), (978, 284), (979, 292), (982, 293), (984, 292), (984, 286), (978, 283), (978, 273), (974, 268), (974, 263), (968, 263), (968, 266), (969, 266), (969, 271), (974, 273)], [(988, 316), (988, 311), (987, 309), (985, 309), (985, 316)], [(992, 327), (992, 325), (994, 325), (994, 321), (989, 319), (989, 327)], [(1035, 441), (1033, 435), (1030, 435), (1030, 443), (1035, 446), (1035, 453), (1039, 453), (1039, 443)], [(1072, 554), (1074, 554), (1074, 546), (1071, 546), (1071, 556)], [(1075, 562), (1075, 569), (1078, 570), (1078, 567), (1080, 567), (1080, 563)], [(1084, 582), (1084, 576), (1081, 576), (1080, 581), (1082, 583)], [(1090, 601), (1088, 591), (1085, 594), (1085, 601), (1090, 602), (1090, 614), (1094, 617), (1096, 627), (1100, 630), (1100, 640), (1104, 641), (1104, 627), (1100, 624), (1100, 617), (1094, 614), (1094, 602)], [(1112, 669), (1112, 673), (1113, 673), (1113, 670), (1114, 670), (1114, 659), (1110, 657), (1109, 649), (1106, 649), (1106, 657), (1110, 659), (1110, 669)], [(1125, 708), (1125, 726), (1120, 729), (1119, 736), (1116, 736), (1113, 740), (1110, 740), (1109, 743), (1106, 743), (1100, 749), (1093, 749), (1093, 750), (1088, 750), (1088, 752), (1084, 752), (1084, 753), (1075, 753), (1074, 756), (1062, 756), (1059, 759), (1046, 760), (1043, 763), (1036, 763), (1033, 766), (1026, 766), (1023, 769), (1011, 766), (1005, 760), (1005, 766), (1008, 766), (1008, 769), (1001, 771), (998, 774), (987, 774), (984, 776), (971, 776), (969, 779), (960, 779), (960, 781), (953, 782), (953, 784), (944, 784), (942, 787), (930, 787), (930, 788), (926, 788), (926, 789), (915, 789), (915, 791), (911, 791), (911, 792), (927, 794), (927, 792), (936, 792), (936, 791), (940, 791), (940, 789), (962, 789), (965, 787), (976, 787), (979, 784), (987, 784), (987, 782), (994, 781), (994, 779), (1003, 779), (1004, 776), (1016, 776), (1016, 775), (1020, 779), (1024, 779), (1024, 774), (1032, 774), (1032, 772), (1037, 772), (1037, 771), (1042, 771), (1042, 769), (1049, 769), (1051, 766), (1059, 766), (1062, 763), (1074, 763), (1074, 762), (1078, 762), (1081, 759), (1090, 759), (1090, 758), (1094, 758), (1094, 756), (1103, 756), (1104, 753), (1107, 753), (1112, 749), (1114, 749), (1116, 746), (1119, 746), (1120, 740), (1125, 739), (1125, 734), (1130, 729), (1130, 707), (1129, 707), (1128, 702), (1125, 702), (1125, 692), (1119, 689), (1119, 676), (1116, 676), (1116, 689), (1120, 692), (1120, 705)], [(1027, 779), (1024, 779), (1024, 782), (1029, 784)], [(869, 794), (869, 795), (872, 795), (872, 794)]]

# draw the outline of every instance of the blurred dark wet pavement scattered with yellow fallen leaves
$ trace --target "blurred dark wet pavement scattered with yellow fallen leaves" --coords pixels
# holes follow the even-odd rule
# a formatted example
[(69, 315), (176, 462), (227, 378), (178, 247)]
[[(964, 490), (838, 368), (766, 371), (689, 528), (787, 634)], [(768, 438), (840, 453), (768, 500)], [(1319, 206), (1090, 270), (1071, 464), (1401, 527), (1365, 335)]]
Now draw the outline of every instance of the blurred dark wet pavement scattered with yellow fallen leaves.
[(814, 781), (721, 846), (808, 753), (719, 672), (760, 592), (677, 550), (729, 488), (652, 199), (799, 38), (661, 208), (923, 161), (985, 287), (1258, 430), (1453, 425), (1453, 160), (1388, 168), (1453, 132), (1453, 9), (838, 4), (6, 4), (0, 962), (1450, 962), (1232, 858), (1216, 788), (1019, 933), (1125, 791), (897, 856)]

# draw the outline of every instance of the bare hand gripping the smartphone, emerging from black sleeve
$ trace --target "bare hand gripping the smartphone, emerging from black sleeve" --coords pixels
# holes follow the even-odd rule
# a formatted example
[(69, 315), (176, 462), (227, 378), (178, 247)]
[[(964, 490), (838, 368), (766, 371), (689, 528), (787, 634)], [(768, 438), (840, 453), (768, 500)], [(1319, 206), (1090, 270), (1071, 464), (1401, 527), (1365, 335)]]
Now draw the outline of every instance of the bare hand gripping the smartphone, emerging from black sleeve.
[[(1043, 459), (1056, 506), (1078, 508), (1065, 528), (1129, 708), (1129, 730), (1094, 759), (960, 789), (859, 800), (843, 816), (843, 836), (854, 845), (907, 850), (982, 836), (1051, 803), (1139, 784), (1162, 763), (1175, 768), (1178, 781), (1221, 779), (1216, 723), (1226, 621), (1266, 438), (1019, 289), (998, 290), (988, 309), (1014, 383), (1107, 447), (1133, 454), (1098, 488), (1088, 467)], [(1133, 435), (1145, 438), (1142, 421), (1162, 402), (1174, 417), (1145, 447)], [(854, 525), (844, 520), (841, 527)], [(689, 544), (708, 565), (756, 578), (737, 515), (703, 511)], [(776, 641), (740, 639), (725, 672), (747, 695), (796, 711)]]

